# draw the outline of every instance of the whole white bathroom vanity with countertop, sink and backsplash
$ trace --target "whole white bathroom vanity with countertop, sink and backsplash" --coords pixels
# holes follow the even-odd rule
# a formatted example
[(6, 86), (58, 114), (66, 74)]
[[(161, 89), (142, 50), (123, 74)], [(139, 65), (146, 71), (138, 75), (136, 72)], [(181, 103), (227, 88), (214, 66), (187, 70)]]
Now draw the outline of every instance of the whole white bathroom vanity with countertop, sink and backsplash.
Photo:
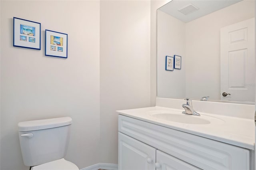
[(180, 99), (118, 111), (119, 170), (254, 169), (254, 105)]

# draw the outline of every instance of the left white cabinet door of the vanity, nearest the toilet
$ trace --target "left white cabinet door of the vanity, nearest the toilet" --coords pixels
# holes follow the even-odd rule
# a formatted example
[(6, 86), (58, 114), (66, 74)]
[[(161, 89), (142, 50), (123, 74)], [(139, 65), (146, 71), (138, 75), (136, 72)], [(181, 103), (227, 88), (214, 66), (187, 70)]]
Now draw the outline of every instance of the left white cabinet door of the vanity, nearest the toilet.
[(156, 148), (118, 132), (118, 170), (155, 170)]

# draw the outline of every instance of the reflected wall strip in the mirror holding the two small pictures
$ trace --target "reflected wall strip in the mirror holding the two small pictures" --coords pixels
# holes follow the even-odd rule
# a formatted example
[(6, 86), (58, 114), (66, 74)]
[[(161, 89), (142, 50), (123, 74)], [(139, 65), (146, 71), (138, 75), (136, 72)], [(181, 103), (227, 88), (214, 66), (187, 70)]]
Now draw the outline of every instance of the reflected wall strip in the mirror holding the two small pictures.
[[(185, 23), (158, 10), (157, 24), (157, 95), (185, 97)], [(166, 71), (166, 55), (181, 56), (182, 69)]]

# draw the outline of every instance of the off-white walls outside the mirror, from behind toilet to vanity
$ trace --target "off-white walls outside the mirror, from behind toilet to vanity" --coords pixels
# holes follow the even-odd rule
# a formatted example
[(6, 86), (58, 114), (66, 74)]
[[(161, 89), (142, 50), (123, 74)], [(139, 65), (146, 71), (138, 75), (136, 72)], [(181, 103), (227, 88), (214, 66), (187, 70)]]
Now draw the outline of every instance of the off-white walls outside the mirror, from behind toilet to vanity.
[[(1, 1), (2, 170), (28, 169), (18, 122), (60, 116), (74, 121), (67, 160), (79, 168), (117, 163), (115, 111), (154, 105), (156, 9), (165, 3)], [(14, 16), (42, 24), (40, 51), (12, 46)], [(68, 34), (68, 59), (44, 56), (45, 29)]]

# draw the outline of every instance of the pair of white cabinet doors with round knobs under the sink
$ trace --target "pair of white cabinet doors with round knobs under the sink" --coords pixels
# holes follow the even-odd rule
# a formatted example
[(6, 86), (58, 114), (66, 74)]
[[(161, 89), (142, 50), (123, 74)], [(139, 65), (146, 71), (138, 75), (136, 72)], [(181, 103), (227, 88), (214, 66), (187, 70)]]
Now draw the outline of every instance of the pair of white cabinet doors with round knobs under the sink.
[(118, 155), (118, 170), (199, 170), (120, 132), (118, 132)]

